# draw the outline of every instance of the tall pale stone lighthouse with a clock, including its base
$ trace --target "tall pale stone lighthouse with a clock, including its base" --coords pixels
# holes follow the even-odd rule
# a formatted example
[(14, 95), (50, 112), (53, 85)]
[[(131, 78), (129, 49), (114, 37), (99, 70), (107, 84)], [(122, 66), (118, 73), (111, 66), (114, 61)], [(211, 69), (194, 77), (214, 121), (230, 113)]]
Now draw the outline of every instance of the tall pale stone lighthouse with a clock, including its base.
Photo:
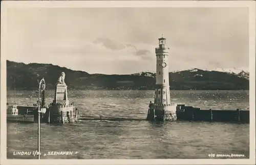
[(176, 121), (177, 103), (170, 102), (169, 90), (169, 64), (166, 48), (166, 38), (158, 39), (158, 48), (156, 48), (156, 86), (155, 100), (150, 103), (148, 108), (147, 120), (150, 121)]

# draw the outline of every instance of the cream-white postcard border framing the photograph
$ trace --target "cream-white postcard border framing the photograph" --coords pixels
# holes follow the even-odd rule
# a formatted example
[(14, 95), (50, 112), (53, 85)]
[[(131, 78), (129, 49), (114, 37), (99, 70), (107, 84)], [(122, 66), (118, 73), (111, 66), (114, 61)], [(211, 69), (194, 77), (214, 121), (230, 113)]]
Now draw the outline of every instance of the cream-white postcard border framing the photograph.
[[(6, 31), (8, 8), (248, 7), (250, 73), (250, 159), (7, 159)], [(254, 1), (2, 1), (1, 2), (1, 164), (253, 164), (255, 163), (255, 2)]]

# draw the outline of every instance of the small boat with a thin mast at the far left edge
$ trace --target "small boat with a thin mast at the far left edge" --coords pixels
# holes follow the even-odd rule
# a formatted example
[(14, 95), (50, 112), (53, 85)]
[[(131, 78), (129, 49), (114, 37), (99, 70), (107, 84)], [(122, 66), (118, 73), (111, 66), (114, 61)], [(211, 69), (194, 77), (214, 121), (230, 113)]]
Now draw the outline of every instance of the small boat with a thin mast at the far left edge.
[[(15, 83), (14, 83), (15, 84)], [(16, 90), (14, 86), (14, 98), (15, 103), (12, 106), (9, 106), (7, 103), (7, 122), (19, 122), (19, 123), (34, 123), (34, 114), (33, 111), (27, 109), (26, 114), (19, 114), (18, 108), (16, 105)]]

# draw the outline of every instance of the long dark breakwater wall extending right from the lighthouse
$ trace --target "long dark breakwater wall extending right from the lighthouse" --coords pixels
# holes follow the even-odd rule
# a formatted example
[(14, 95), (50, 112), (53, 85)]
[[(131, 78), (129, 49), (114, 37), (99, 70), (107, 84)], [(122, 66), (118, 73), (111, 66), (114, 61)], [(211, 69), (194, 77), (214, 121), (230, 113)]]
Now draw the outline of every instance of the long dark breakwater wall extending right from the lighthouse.
[(249, 123), (249, 110), (203, 110), (192, 106), (177, 105), (177, 119), (184, 121)]

